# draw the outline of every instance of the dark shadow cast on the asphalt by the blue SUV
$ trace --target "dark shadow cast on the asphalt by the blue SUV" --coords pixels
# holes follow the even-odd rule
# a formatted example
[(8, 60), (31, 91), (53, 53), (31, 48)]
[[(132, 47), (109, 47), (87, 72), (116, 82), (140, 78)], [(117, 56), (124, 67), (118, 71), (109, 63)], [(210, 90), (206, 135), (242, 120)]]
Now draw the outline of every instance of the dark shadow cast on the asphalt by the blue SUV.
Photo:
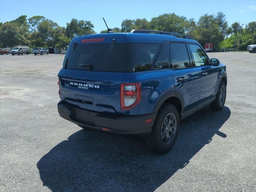
[(138, 137), (80, 130), (45, 154), (37, 167), (43, 185), (53, 192), (151, 192), (184, 168), (215, 134), (226, 138), (219, 129), (229, 117), (228, 107), (201, 109), (182, 121), (176, 144), (164, 155), (150, 152)]

